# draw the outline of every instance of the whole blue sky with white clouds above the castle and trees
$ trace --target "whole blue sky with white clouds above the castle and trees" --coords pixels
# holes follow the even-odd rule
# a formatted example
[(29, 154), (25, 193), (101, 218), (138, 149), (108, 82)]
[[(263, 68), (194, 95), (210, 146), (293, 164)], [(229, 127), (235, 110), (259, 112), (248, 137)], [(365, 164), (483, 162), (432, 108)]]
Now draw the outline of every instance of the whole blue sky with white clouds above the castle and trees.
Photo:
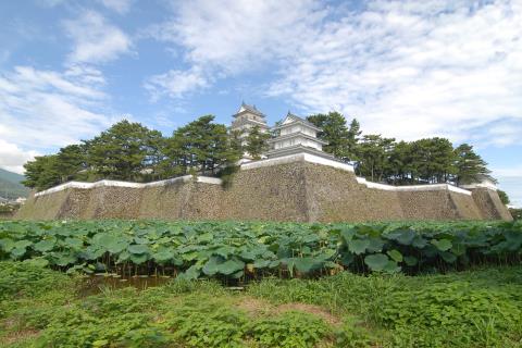
[(169, 135), (241, 100), (472, 144), (522, 206), (520, 1), (0, 2), (0, 166), (126, 117)]

